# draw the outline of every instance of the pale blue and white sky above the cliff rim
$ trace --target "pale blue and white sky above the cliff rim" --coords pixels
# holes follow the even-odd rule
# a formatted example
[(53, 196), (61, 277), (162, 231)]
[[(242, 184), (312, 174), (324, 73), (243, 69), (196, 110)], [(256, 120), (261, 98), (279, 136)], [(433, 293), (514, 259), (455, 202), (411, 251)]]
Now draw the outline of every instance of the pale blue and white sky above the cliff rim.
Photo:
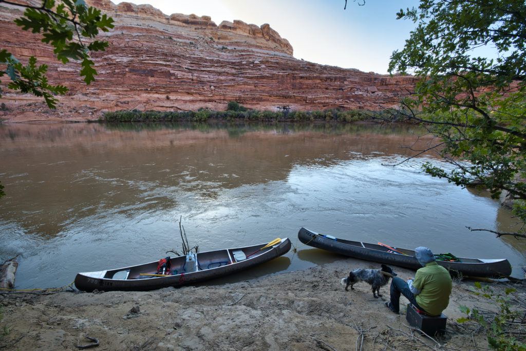
[[(115, 0), (113, 0), (115, 2)], [(258, 26), (268, 23), (294, 48), (294, 57), (323, 65), (386, 74), (389, 57), (402, 49), (415, 24), (396, 19), (400, 8), (417, 0), (127, 0), (150, 4), (167, 15), (240, 19)], [(119, 3), (117, 1), (117, 3)]]

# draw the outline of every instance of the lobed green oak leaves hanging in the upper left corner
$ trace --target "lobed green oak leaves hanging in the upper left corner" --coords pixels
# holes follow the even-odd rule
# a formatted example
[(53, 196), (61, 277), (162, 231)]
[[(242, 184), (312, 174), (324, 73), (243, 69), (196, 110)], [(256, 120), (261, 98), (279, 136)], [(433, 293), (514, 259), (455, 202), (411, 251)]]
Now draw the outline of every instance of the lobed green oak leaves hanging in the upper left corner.
[[(113, 19), (99, 9), (87, 6), (84, 0), (42, 0), (41, 6), (29, 3), (15, 3), (0, 0), (0, 4), (25, 7), (24, 16), (15, 23), (24, 31), (41, 33), (42, 42), (53, 46), (57, 59), (67, 63), (70, 59), (79, 61), (80, 76), (86, 84), (95, 80), (97, 72), (90, 59), (92, 51), (104, 51), (108, 42), (93, 40), (99, 31), (113, 28)], [(8, 88), (41, 96), (50, 108), (55, 108), (57, 94), (65, 94), (67, 87), (48, 83), (47, 65), (37, 65), (31, 56), (27, 65), (22, 64), (6, 49), (0, 48), (0, 77), (7, 75), (11, 82)], [(0, 90), (0, 97), (2, 91)]]

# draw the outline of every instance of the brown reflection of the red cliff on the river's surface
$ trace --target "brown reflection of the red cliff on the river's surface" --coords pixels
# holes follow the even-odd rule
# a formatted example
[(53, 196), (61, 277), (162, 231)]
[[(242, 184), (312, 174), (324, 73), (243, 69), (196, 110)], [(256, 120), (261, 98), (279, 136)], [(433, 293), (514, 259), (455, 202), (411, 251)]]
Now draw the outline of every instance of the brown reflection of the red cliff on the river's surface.
[[(126, 132), (129, 128), (134, 133)], [(102, 212), (168, 210), (182, 199), (188, 203), (188, 196), (210, 202), (222, 189), (282, 181), (295, 165), (330, 166), (376, 157), (378, 151), (406, 154), (400, 146), (412, 138), (400, 128), (366, 125), (237, 130), (232, 138), (223, 124), (3, 126), (2, 178), (9, 187), (3, 218), (49, 238)]]

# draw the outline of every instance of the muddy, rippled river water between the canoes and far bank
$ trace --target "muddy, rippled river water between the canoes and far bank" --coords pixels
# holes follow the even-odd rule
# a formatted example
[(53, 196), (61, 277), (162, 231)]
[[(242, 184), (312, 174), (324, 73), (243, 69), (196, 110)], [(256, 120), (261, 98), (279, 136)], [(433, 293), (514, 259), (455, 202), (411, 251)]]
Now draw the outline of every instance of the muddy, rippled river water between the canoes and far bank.
[[(523, 243), (466, 228), (513, 230), (509, 210), (488, 194), (422, 173), (422, 162), (440, 164), (433, 154), (385, 165), (413, 155), (407, 146), (419, 132), (359, 124), (0, 124), (7, 194), (0, 199), (0, 259), (20, 255), (17, 288), (63, 286), (77, 272), (180, 249), (182, 217), (201, 251), (276, 237), (300, 246), (305, 226), (524, 266)], [(341, 258), (302, 246), (219, 282)]]

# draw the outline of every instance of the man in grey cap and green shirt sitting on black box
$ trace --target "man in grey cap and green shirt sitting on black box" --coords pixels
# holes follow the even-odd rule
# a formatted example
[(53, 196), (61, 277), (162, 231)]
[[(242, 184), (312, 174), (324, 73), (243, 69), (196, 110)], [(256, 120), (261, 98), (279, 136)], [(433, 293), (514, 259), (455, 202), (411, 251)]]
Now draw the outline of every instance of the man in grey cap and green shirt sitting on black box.
[(423, 267), (417, 270), (414, 280), (404, 282), (399, 277), (393, 277), (391, 300), (385, 305), (392, 312), (399, 313), (402, 294), (422, 312), (430, 316), (439, 316), (449, 304), (451, 276), (446, 268), (437, 264), (429, 248), (417, 247), (414, 254)]

